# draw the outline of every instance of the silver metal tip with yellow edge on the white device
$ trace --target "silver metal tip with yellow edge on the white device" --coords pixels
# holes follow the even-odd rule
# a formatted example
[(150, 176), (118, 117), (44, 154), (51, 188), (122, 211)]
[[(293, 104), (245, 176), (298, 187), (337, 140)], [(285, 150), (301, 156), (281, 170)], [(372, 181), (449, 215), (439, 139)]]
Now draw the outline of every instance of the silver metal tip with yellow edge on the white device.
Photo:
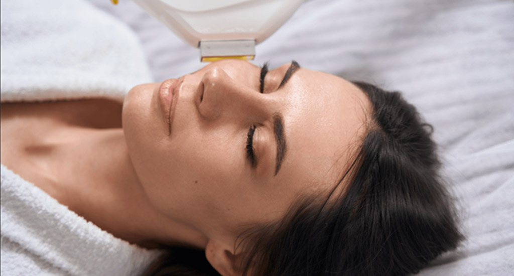
[(200, 41), (202, 62), (223, 59), (253, 60), (255, 40), (209, 40)]

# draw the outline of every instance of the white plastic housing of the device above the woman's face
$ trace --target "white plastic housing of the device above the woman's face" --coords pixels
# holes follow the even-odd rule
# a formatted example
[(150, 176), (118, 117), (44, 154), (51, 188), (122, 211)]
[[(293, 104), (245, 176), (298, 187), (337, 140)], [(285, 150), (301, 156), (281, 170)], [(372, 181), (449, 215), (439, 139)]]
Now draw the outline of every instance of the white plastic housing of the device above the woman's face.
[(246, 41), (250, 50), (251, 43), (267, 39), (305, 0), (133, 1), (193, 47), (201, 49), (200, 42), (218, 42), (214, 48), (222, 51), (211, 49), (210, 56), (240, 56), (239, 46), (230, 41)]

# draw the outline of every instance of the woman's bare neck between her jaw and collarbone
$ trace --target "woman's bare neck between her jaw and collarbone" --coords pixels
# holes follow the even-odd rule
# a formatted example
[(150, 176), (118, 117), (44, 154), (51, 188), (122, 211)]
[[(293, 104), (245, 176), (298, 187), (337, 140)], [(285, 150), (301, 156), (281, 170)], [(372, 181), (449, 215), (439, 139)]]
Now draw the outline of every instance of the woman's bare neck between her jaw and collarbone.
[[(144, 247), (157, 244), (203, 249), (207, 238), (194, 227), (158, 212), (146, 197), (121, 128), (72, 130), (52, 146), (58, 200), (103, 230)], [(71, 161), (70, 161), (71, 160)]]

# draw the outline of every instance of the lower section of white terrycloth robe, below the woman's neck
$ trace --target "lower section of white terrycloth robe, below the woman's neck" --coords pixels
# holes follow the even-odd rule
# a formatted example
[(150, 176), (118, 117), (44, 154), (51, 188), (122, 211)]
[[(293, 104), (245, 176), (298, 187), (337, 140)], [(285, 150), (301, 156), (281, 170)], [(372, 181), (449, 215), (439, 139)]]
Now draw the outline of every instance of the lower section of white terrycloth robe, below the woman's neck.
[(140, 275), (160, 252), (87, 222), (2, 165), (2, 275)]

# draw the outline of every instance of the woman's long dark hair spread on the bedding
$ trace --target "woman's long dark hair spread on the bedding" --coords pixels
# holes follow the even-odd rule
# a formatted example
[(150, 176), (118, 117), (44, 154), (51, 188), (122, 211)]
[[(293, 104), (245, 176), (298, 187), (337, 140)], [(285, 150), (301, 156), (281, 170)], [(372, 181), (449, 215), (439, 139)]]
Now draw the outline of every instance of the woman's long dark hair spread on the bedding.
[[(463, 239), (432, 127), (400, 93), (354, 84), (372, 116), (351, 168), (324, 200), (306, 195), (279, 222), (245, 232), (243, 275), (406, 275)], [(336, 194), (343, 180), (348, 186)]]

